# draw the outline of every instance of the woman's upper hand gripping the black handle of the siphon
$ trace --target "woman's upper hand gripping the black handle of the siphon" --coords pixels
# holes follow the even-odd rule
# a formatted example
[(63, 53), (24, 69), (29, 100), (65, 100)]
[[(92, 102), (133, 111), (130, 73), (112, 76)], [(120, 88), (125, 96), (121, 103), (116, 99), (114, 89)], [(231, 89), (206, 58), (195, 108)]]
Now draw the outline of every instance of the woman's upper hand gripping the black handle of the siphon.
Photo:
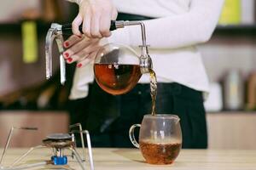
[(87, 37), (109, 37), (111, 20), (116, 20), (117, 10), (111, 0), (80, 0), (79, 14), (73, 20), (73, 34), (81, 36), (79, 26)]

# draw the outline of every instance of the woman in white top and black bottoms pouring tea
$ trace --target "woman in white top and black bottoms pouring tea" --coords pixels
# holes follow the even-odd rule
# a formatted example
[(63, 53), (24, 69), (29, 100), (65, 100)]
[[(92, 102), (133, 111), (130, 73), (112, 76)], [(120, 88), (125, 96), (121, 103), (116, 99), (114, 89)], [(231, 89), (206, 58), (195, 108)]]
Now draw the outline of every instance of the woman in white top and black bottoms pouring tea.
[[(109, 32), (117, 8), (128, 20), (144, 20), (149, 54), (158, 79), (157, 113), (177, 114), (181, 118), (183, 148), (207, 148), (203, 94), (207, 94), (208, 80), (195, 45), (207, 42), (212, 36), (224, 0), (73, 2), (79, 4), (79, 14), (73, 20), (75, 35), (64, 42), (67, 63), (77, 62), (78, 67), (70, 99), (85, 97), (84, 119), (86, 127), (94, 133), (93, 144), (131, 146), (129, 127), (141, 122), (151, 108), (149, 78), (145, 75), (136, 88), (121, 96), (104, 94), (94, 82), (91, 61), (102, 44), (120, 42), (132, 48), (141, 44), (141, 31), (136, 26), (113, 31), (112, 35)], [(78, 29), (82, 22), (84, 36)]]

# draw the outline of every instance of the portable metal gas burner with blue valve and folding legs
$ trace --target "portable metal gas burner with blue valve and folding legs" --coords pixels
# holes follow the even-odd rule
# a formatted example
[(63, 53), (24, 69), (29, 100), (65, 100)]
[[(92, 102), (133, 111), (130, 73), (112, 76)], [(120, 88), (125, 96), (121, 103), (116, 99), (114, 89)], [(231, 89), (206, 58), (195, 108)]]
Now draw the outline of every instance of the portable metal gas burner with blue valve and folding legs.
[[(74, 127), (79, 127), (79, 130), (72, 130)], [(90, 133), (87, 130), (83, 130), (80, 123), (71, 125), (69, 133), (52, 133), (46, 136), (46, 139), (43, 140), (43, 144), (40, 144), (38, 146), (32, 147), (30, 150), (27, 150), (26, 153), (22, 156), (20, 156), (18, 159), (16, 159), (13, 164), (9, 167), (3, 167), (3, 159), (6, 155), (6, 150), (9, 147), (9, 142), (12, 136), (12, 133), (15, 129), (22, 129), (22, 130), (37, 130), (37, 128), (34, 127), (12, 127), (9, 133), (9, 137), (7, 139), (7, 143), (5, 144), (3, 154), (0, 160), (0, 169), (1, 170), (20, 170), (20, 169), (27, 169), (29, 167), (42, 167), (45, 165), (53, 165), (53, 166), (65, 166), (68, 164), (68, 159), (65, 154), (64, 150), (71, 150), (72, 155), (70, 156), (72, 159), (75, 159), (79, 162), (79, 166), (81, 169), (85, 170), (85, 147), (84, 147), (84, 134), (86, 135), (86, 142), (88, 147), (88, 155), (89, 155), (89, 161), (90, 161), (90, 170), (94, 170), (93, 165), (93, 158), (92, 158), (92, 150), (91, 150), (91, 144), (90, 144)], [(83, 155), (84, 158), (82, 159), (79, 155), (78, 151), (76, 150), (76, 139), (75, 139), (75, 133), (80, 134), (80, 139), (82, 143), (82, 149), (83, 149)], [(29, 155), (32, 150), (36, 150), (39, 148), (50, 148), (52, 150), (52, 156), (50, 157), (50, 160), (48, 161), (42, 161), (38, 163), (33, 164), (26, 164), (22, 166), (16, 166), (21, 160), (23, 160), (27, 155)]]

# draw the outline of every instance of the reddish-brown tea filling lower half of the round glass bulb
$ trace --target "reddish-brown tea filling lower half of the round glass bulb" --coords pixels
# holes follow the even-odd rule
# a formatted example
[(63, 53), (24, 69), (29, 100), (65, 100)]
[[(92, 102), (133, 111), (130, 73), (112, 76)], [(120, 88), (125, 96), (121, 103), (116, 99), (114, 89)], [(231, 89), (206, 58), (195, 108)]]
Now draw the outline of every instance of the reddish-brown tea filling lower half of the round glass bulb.
[(129, 92), (142, 77), (140, 65), (95, 64), (94, 73), (98, 85), (113, 95)]

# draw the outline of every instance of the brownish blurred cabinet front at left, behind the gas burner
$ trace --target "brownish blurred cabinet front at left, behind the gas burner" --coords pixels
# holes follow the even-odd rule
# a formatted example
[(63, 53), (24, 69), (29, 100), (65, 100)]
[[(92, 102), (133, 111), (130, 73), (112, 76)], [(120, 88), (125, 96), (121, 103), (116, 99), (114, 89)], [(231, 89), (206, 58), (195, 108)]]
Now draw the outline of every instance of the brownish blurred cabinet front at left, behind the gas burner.
[(10, 147), (32, 147), (42, 144), (49, 133), (67, 133), (69, 117), (65, 111), (0, 111), (0, 147), (13, 127), (38, 127), (38, 131), (15, 130)]

